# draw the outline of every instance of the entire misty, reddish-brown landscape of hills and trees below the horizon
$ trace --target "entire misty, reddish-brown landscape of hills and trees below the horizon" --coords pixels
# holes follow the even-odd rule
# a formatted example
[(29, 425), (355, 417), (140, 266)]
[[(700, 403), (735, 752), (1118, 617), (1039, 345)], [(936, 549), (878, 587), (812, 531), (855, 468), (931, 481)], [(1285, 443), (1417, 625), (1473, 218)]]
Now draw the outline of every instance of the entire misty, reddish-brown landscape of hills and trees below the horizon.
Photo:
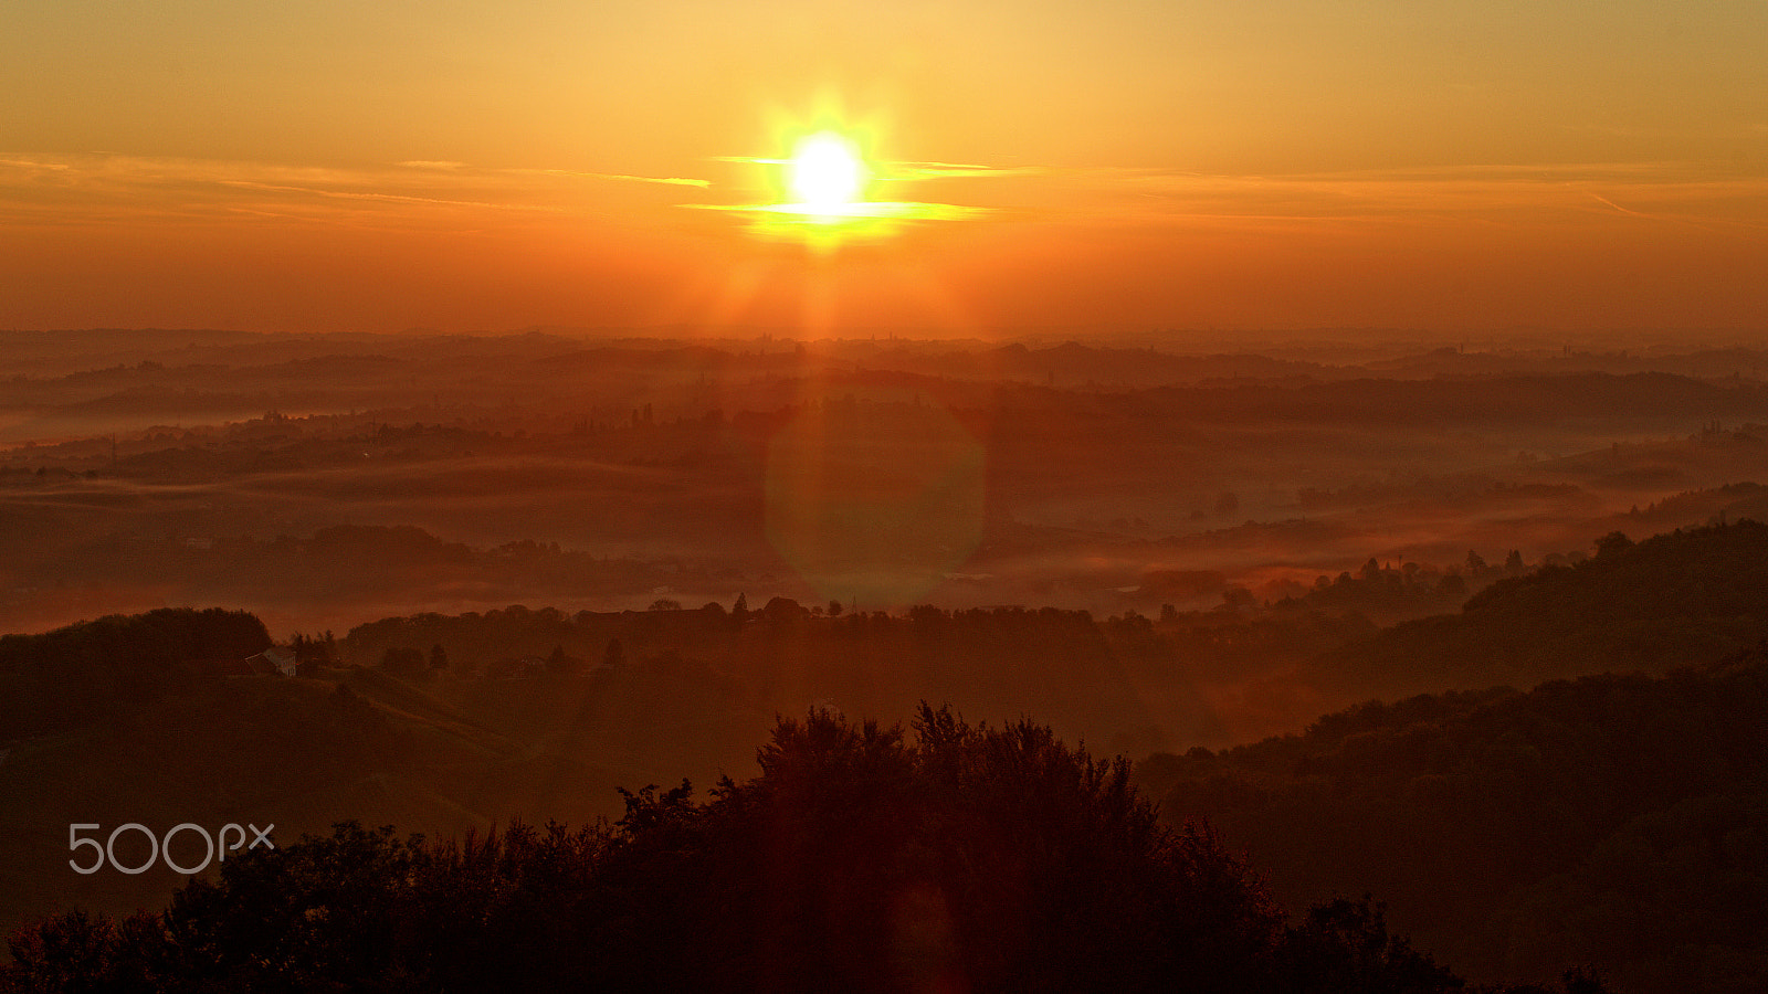
[(1768, 987), (1768, 350), (1155, 341), (0, 333), (0, 989)]

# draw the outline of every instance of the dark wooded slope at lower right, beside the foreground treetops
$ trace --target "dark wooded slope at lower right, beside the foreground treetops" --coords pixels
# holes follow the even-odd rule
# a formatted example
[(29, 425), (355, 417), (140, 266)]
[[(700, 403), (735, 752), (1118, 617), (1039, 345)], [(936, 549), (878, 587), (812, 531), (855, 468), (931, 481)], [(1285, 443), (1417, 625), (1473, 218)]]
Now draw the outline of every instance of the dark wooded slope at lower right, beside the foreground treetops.
[(1657, 679), (1370, 702), (1139, 780), (1289, 898), (1372, 888), (1476, 976), (1575, 960), (1621, 990), (1763, 990), (1764, 715), (1768, 644)]

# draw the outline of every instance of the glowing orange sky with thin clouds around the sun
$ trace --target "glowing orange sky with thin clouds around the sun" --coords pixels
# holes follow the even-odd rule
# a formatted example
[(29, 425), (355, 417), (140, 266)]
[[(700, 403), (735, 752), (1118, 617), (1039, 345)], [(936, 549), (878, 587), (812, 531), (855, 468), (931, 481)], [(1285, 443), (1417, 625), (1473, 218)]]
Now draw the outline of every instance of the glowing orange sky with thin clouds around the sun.
[[(0, 327), (1759, 331), (1764, 39), (1759, 0), (12, 0)], [(758, 237), (728, 207), (812, 127), (951, 209)]]

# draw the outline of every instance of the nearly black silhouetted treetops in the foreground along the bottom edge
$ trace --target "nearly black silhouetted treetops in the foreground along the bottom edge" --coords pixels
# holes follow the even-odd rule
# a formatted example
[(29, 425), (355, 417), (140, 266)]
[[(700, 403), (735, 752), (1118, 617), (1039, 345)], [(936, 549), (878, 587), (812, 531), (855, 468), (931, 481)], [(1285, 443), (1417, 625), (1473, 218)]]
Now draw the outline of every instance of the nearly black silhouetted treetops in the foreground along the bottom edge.
[[(762, 773), (617, 824), (424, 845), (339, 826), (226, 863), (159, 913), (16, 932), (7, 990), (1464, 989), (1368, 900), (1289, 921), (1124, 761), (1047, 727), (787, 720)], [(1600, 992), (1584, 971), (1563, 990)], [(1535, 990), (1540, 987), (1513, 987)]]

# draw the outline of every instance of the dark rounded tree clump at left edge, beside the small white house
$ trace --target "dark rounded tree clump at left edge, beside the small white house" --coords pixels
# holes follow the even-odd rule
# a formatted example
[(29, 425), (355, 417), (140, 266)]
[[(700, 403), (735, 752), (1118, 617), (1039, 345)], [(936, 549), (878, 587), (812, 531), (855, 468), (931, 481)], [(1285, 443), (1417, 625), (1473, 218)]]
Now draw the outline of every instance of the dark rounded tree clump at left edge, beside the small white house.
[(269, 646), (256, 616), (217, 607), (0, 635), (0, 739), (44, 734), (187, 688)]

